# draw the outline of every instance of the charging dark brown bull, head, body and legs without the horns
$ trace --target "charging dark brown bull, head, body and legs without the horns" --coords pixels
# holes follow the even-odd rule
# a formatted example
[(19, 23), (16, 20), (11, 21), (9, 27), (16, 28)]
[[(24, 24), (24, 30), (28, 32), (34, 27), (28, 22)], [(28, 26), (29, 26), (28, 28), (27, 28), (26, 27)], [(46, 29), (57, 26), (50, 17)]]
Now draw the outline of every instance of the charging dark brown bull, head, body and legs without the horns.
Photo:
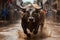
[(41, 9), (37, 9), (34, 6), (27, 7), (22, 9), (23, 17), (21, 18), (22, 28), (24, 33), (30, 37), (31, 34), (27, 32), (27, 29), (34, 34), (38, 33), (38, 28), (41, 26), (41, 32), (44, 27), (44, 12)]

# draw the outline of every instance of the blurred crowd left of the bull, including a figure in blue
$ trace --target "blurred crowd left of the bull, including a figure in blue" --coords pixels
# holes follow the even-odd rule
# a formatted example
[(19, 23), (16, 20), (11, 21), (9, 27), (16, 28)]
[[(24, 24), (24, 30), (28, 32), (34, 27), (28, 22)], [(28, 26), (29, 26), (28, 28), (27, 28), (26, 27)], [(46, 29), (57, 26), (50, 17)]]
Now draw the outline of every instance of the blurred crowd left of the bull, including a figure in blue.
[[(14, 0), (15, 1), (15, 0)], [(12, 0), (1, 0), (0, 20), (16, 20), (18, 18), (18, 11), (16, 4)], [(15, 19), (15, 17), (17, 17)]]

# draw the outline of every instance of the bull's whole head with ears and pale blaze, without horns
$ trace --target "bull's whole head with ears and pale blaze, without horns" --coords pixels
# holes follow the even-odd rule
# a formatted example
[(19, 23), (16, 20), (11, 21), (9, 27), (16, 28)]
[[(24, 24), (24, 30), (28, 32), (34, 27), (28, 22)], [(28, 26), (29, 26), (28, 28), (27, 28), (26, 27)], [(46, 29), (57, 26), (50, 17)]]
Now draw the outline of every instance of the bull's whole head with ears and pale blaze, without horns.
[(38, 18), (38, 9), (34, 8), (32, 5), (22, 10), (23, 17), (26, 18), (28, 22), (35, 22)]

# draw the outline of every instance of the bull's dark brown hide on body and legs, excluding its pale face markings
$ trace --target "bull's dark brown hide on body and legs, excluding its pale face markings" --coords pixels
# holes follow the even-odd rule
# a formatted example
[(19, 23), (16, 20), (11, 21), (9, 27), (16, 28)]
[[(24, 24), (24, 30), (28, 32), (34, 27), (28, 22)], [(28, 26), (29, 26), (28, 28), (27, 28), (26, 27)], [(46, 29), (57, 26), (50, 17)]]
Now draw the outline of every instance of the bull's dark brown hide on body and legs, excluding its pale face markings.
[(30, 30), (30, 32), (33, 32), (34, 34), (37, 34), (39, 25), (41, 25), (41, 30), (43, 29), (44, 25), (44, 13), (42, 13), (40, 10), (36, 9), (32, 16), (34, 17), (35, 22), (29, 21), (28, 18), (30, 16), (29, 12), (25, 12), (24, 16), (22, 17), (22, 28), (24, 30), (24, 33), (30, 37), (30, 34), (27, 32), (27, 28)]

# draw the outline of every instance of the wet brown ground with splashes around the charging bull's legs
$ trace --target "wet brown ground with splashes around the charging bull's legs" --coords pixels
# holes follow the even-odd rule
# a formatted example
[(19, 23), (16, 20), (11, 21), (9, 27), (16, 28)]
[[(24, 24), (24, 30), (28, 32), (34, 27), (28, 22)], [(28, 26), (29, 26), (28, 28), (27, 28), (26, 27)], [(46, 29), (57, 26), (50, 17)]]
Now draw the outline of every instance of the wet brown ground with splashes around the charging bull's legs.
[(21, 20), (18, 20), (18, 23), (0, 28), (0, 40), (60, 40), (60, 24), (46, 20), (42, 33), (39, 29), (37, 35), (32, 34), (31, 38), (27, 38), (23, 33)]

